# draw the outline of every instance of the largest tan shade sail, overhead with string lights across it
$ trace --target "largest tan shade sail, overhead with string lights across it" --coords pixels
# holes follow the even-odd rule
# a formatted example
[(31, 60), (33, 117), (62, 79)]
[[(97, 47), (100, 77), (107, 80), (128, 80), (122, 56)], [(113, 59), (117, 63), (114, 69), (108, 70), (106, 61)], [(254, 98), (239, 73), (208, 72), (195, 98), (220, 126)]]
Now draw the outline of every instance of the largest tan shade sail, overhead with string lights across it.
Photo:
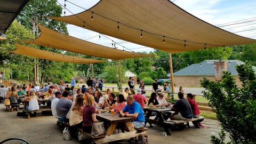
[(256, 43), (255, 39), (229, 33), (198, 19), (167, 0), (101, 0), (82, 13), (49, 18), (170, 53)]

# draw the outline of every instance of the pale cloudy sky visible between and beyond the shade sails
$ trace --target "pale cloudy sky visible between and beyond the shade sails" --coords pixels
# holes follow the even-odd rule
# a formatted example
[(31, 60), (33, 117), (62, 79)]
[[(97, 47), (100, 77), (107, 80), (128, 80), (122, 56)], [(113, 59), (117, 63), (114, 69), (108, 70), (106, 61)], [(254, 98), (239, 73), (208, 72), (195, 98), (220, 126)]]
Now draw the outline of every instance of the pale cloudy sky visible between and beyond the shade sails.
[[(69, 0), (72, 3), (75, 3), (79, 6), (84, 7), (85, 9), (89, 9), (91, 6), (97, 4), (98, 0)], [(238, 25), (231, 25), (227, 27), (220, 27), (222, 29), (228, 30), (232, 33), (237, 31), (243, 31), (236, 33), (241, 36), (250, 37), (256, 39), (256, 1), (255, 0), (172, 0), (173, 3), (180, 6), (182, 9), (187, 12), (195, 15), (197, 18), (202, 19), (206, 22), (211, 23), (215, 26), (221, 26), (221, 24), (229, 23), (229, 22), (244, 22)], [(58, 0), (58, 2), (64, 5), (64, 0)], [(66, 2), (67, 9), (72, 13), (79, 13), (84, 11), (69, 2)], [(66, 15), (71, 15), (70, 12), (66, 11)], [(248, 19), (248, 20), (245, 20)], [(240, 21), (244, 20), (244, 21)], [(251, 21), (251, 22), (245, 22)], [(237, 22), (236, 22), (237, 23)], [(230, 23), (232, 24), (232, 23)], [(245, 26), (247, 25), (247, 26)], [(222, 25), (223, 26), (223, 25)], [(255, 30), (250, 30), (255, 29)], [(82, 29), (81, 27), (68, 25), (69, 35), (84, 39), (86, 41), (90, 41), (93, 43), (110, 46), (111, 41), (107, 38), (101, 37), (99, 39), (99, 34), (90, 30)], [(109, 37), (109, 36), (108, 36)], [(128, 47), (129, 49), (133, 49), (135, 52), (142, 51), (152, 51), (153, 49), (137, 44), (133, 44), (130, 42), (125, 42), (121, 39), (109, 37), (113, 39), (115, 42), (120, 43), (121, 45)], [(139, 48), (139, 49), (134, 49)], [(122, 47), (120, 47), (122, 49)]]

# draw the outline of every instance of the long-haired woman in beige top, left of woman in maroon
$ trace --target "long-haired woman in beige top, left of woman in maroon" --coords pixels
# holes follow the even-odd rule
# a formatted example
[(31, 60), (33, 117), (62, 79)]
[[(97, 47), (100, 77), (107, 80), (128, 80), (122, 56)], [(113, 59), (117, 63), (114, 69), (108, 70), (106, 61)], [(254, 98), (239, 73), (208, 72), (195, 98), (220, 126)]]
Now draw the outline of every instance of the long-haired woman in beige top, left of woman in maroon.
[(76, 98), (76, 102), (74, 107), (71, 110), (69, 124), (70, 126), (74, 126), (77, 129), (81, 129), (83, 126), (83, 108), (84, 108), (84, 98), (79, 97)]

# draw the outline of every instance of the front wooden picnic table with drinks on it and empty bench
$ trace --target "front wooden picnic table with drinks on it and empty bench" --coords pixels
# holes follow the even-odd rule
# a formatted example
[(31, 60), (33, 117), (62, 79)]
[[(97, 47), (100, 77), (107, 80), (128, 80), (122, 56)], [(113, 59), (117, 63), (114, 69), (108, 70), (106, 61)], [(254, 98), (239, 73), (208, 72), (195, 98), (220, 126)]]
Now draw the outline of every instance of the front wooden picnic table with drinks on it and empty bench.
[[(111, 116), (111, 114), (107, 116), (106, 113), (100, 113), (100, 114), (97, 114), (96, 117), (97, 119), (100, 119), (101, 121), (109, 124), (105, 138), (94, 140), (94, 142), (97, 144), (133, 138), (136, 136), (136, 130), (133, 129), (132, 123), (130, 122), (135, 119), (133, 117), (119, 117), (119, 115), (116, 112), (114, 116)], [(129, 129), (129, 132), (124, 132), (124, 133), (121, 132), (121, 133), (113, 134), (114, 131), (116, 130), (116, 126), (118, 123), (122, 123), (123, 125), (126, 125), (127, 128)]]

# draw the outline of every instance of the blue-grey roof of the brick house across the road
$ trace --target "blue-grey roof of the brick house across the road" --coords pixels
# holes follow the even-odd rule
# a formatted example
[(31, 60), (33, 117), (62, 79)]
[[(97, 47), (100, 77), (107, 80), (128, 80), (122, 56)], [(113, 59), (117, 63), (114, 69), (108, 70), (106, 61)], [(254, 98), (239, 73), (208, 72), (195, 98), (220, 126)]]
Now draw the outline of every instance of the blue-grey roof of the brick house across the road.
[[(183, 68), (179, 71), (173, 73), (174, 76), (214, 76), (214, 61), (218, 60), (205, 60), (200, 63), (196, 63), (190, 65), (186, 68)], [(231, 73), (231, 75), (238, 75), (235, 66), (241, 65), (244, 63), (239, 60), (226, 60), (227, 61), (227, 71)], [(256, 71), (256, 67), (253, 66), (254, 71)]]

